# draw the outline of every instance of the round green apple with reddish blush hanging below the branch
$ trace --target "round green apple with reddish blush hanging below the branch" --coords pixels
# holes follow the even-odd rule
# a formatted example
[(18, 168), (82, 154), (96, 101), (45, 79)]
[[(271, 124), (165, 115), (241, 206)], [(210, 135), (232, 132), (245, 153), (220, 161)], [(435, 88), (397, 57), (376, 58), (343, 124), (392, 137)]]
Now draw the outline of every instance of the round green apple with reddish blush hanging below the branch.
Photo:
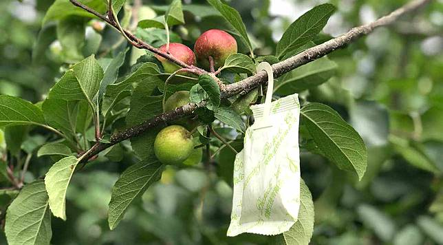
[(193, 150), (193, 136), (180, 125), (165, 127), (155, 136), (154, 153), (163, 164), (182, 164)]

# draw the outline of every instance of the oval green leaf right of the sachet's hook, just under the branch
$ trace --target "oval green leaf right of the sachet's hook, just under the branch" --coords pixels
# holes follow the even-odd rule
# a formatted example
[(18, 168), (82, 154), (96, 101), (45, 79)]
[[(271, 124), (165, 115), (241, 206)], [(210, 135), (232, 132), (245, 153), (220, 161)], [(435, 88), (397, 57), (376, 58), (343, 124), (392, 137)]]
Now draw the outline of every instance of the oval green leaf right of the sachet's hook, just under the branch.
[(281, 76), (274, 85), (274, 92), (286, 96), (316, 87), (334, 76), (337, 67), (329, 58), (319, 58)]

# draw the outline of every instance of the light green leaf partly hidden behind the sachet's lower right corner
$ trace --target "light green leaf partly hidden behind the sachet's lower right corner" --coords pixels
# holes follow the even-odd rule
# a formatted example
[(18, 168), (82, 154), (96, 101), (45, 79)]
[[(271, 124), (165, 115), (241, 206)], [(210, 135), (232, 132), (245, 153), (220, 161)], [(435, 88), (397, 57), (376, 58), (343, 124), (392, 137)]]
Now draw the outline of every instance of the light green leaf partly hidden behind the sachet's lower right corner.
[(310, 243), (314, 231), (314, 203), (312, 195), (303, 180), (300, 182), (300, 209), (295, 224), (278, 235), (276, 244), (307, 245)]

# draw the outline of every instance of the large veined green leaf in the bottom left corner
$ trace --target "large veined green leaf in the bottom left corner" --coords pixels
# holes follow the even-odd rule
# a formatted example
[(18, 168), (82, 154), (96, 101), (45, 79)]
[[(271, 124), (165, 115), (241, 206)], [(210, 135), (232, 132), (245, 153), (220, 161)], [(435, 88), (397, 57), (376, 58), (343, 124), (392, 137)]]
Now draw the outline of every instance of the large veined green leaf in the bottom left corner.
[(10, 245), (50, 244), (51, 214), (43, 180), (26, 184), (6, 212), (6, 239)]

